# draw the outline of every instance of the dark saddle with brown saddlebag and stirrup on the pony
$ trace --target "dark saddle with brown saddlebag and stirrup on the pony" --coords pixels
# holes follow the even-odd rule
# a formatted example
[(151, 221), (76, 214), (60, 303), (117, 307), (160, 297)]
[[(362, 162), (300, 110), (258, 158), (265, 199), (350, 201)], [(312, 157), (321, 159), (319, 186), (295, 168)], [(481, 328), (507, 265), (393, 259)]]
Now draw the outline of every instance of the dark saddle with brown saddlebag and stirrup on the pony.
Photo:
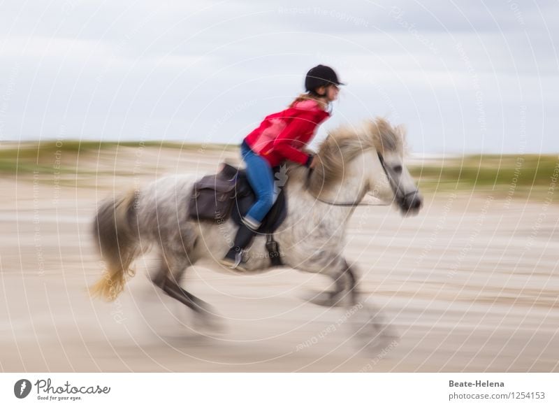
[[(189, 199), (190, 219), (222, 224), (231, 217), (235, 224), (240, 225), (242, 217), (256, 201), (256, 194), (250, 186), (245, 170), (226, 163), (222, 165), (219, 173), (205, 176), (194, 184)], [(287, 201), (284, 188), (279, 187), (279, 194), (272, 208), (256, 230), (260, 234), (267, 235), (266, 249), (273, 266), (282, 265), (273, 233), (285, 220), (286, 215)]]

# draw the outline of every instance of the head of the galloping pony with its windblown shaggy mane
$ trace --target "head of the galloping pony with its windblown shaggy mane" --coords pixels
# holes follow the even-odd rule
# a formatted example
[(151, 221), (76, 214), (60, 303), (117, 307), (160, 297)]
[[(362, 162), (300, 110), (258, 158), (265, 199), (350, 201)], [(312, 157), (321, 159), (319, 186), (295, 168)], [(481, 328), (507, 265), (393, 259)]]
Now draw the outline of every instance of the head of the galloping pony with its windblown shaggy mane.
[(341, 127), (321, 143), (319, 165), (308, 187), (315, 196), (340, 183), (359, 185), (362, 199), (366, 193), (391, 200), (403, 215), (413, 215), (423, 198), (405, 164), (405, 129), (392, 127), (384, 118), (365, 122), (360, 127)]

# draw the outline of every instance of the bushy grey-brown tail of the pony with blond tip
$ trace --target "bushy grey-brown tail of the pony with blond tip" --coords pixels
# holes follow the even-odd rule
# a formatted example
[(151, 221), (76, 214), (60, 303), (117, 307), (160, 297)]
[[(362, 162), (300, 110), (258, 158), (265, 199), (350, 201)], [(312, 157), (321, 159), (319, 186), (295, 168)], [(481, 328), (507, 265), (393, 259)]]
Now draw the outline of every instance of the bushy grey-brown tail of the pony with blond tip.
[(126, 276), (134, 276), (130, 269), (138, 255), (138, 234), (131, 227), (135, 202), (133, 190), (110, 199), (101, 205), (93, 224), (93, 235), (97, 248), (105, 263), (103, 277), (89, 292), (93, 297), (114, 301), (124, 290)]

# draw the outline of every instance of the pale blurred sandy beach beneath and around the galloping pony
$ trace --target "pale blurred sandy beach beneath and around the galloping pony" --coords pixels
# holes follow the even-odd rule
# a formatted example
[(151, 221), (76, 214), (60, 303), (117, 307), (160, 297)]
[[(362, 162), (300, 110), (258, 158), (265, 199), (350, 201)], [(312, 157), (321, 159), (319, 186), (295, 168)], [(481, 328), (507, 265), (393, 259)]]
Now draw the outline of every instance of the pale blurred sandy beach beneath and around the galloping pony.
[[(559, 371), (559, 206), (491, 190), (425, 192), (412, 218), (358, 208), (345, 250), (361, 279), (357, 313), (301, 299), (326, 287), (321, 276), (196, 264), (183, 284), (223, 322), (201, 331), (147, 279), (149, 254), (117, 301), (91, 299), (97, 202), (164, 174), (210, 173), (223, 159), (237, 154), (122, 148), (80, 157), (74, 175), (3, 177), (0, 370)], [(393, 334), (373, 350), (355, 328), (365, 310)]]

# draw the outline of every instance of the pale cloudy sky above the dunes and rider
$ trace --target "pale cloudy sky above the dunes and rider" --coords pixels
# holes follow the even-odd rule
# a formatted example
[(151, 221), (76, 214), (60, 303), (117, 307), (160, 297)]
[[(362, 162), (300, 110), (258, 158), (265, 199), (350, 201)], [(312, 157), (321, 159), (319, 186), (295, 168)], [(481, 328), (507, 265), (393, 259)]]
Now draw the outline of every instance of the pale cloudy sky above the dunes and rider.
[(319, 130), (376, 115), (413, 152), (559, 152), (558, 1), (0, 3), (0, 141), (240, 143), (333, 66)]

